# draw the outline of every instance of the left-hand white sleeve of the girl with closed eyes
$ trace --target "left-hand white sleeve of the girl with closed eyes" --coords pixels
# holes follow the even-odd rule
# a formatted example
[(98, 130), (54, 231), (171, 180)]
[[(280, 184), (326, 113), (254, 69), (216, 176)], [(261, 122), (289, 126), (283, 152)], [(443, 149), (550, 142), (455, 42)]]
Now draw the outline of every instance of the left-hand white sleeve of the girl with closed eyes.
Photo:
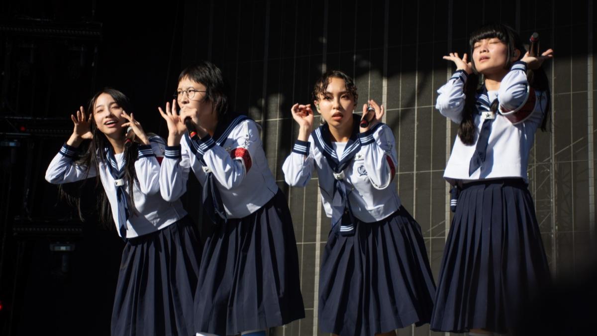
[(450, 118), (454, 123), (462, 121), (462, 111), (464, 109), (464, 83), (466, 83), (466, 71), (458, 70), (454, 72), (448, 83), (439, 88), (438, 100), (435, 103), (435, 108), (444, 115)]

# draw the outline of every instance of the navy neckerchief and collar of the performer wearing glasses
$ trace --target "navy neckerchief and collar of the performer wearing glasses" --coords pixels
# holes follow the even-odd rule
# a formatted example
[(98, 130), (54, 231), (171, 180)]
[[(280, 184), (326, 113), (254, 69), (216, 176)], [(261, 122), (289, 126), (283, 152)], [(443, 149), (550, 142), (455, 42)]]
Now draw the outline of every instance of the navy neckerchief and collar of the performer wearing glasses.
[[(233, 115), (228, 118), (227, 121), (219, 122), (216, 126), (214, 137), (209, 139), (216, 139), (216, 145), (218, 146), (223, 145), (230, 135), (230, 132), (232, 132), (238, 124), (248, 118), (249, 117), (246, 115)], [(202, 145), (204, 145), (204, 142), (202, 142), (202, 140), (199, 139), (199, 136), (196, 135), (191, 139), (188, 132), (184, 133), (184, 139), (186, 139), (190, 151), (196, 155), (199, 162), (201, 162), (201, 165), (206, 167), (205, 161), (203, 160), (205, 151)], [(224, 209), (224, 203), (221, 200), (220, 191), (216, 186), (216, 179), (211, 170), (205, 170), (202, 201), (205, 212), (207, 212), (207, 215), (214, 224), (219, 224), (221, 221), (225, 223), (227, 221), (226, 209)]]

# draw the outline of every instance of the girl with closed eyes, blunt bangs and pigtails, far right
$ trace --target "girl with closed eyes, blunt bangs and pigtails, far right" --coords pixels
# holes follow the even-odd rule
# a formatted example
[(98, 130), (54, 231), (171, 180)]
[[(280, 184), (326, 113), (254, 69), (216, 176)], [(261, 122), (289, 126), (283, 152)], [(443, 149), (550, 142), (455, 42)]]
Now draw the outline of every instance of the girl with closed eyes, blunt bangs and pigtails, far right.
[[(460, 124), (444, 178), (456, 214), (445, 245), (431, 326), (439, 331), (506, 332), (550, 275), (533, 200), (528, 154), (545, 128), (549, 88), (543, 56), (524, 53), (519, 36), (487, 25), (470, 36), (472, 62), (439, 88), (436, 108)], [(528, 71), (527, 69), (532, 69)], [(534, 82), (527, 78), (533, 74)], [(478, 88), (479, 76), (484, 80)], [(456, 201), (457, 198), (457, 201)]]

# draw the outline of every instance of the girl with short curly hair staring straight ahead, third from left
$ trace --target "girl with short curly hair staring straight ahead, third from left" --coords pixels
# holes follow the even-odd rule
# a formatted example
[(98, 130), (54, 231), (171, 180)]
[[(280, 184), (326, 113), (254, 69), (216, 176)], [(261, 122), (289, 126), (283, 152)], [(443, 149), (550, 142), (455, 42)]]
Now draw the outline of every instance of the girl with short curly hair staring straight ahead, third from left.
[(325, 123), (312, 132), (313, 111), (295, 104), (300, 126), (284, 162), (285, 180), (304, 187), (315, 167), (332, 229), (319, 276), (319, 326), (339, 335), (394, 335), (394, 329), (429, 322), (435, 285), (417, 222), (401, 206), (393, 182), (392, 130), (381, 123), (383, 106), (367, 127), (353, 114), (352, 79), (328, 71), (313, 102)]

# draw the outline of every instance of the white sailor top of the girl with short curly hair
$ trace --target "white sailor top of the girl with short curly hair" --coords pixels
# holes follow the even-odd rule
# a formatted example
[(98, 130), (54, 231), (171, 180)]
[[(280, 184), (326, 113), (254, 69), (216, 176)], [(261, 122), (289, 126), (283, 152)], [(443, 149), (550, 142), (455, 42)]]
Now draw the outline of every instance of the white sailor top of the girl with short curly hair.
[[(396, 212), (401, 202), (393, 181), (398, 160), (390, 127), (379, 123), (365, 133), (358, 133), (354, 143), (347, 143), (341, 155), (351, 155), (350, 151), (354, 146), (360, 145), (360, 149), (357, 149), (352, 163), (347, 165), (340, 176), (334, 173), (320, 147), (315, 145), (314, 136), (318, 137), (318, 143), (324, 151), (339, 154), (333, 143), (322, 138), (319, 130), (321, 127), (313, 131), (308, 142), (297, 140), (295, 143), (293, 151), (282, 166), (286, 183), (293, 187), (305, 187), (313, 169), (317, 167), (319, 190), (325, 215), (328, 217), (339, 218), (344, 211), (341, 197), (334, 193), (336, 178), (346, 183), (352, 214), (360, 221), (376, 222)], [(339, 159), (341, 161), (342, 157)]]

